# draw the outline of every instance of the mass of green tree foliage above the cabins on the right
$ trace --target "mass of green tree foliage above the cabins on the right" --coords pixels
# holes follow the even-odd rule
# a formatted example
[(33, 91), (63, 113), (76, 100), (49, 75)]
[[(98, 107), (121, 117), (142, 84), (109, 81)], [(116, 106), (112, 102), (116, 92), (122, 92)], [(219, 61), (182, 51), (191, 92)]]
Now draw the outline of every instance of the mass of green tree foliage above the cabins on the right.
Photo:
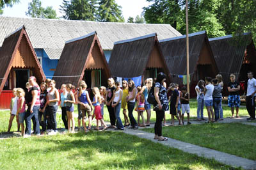
[[(186, 0), (147, 0), (143, 8), (147, 23), (171, 24), (186, 33)], [(251, 31), (256, 38), (255, 0), (190, 0), (189, 33), (206, 30), (209, 37)]]

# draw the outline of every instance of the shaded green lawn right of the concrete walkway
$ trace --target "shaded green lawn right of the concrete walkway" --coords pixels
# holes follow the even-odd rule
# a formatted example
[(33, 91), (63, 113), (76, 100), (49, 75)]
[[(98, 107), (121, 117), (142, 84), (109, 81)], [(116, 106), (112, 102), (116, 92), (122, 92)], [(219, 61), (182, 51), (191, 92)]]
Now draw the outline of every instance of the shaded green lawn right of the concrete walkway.
[[(154, 132), (154, 128), (143, 129)], [(239, 157), (256, 160), (256, 127), (241, 123), (205, 123), (163, 127), (163, 135)]]

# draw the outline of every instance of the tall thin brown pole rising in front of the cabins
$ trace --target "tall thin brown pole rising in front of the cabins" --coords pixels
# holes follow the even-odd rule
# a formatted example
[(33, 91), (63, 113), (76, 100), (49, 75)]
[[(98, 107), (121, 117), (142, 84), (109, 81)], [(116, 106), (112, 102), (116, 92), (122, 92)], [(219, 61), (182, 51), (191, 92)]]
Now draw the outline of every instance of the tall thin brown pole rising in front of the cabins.
[(188, 0), (186, 0), (186, 44), (187, 44), (187, 87), (189, 93), (189, 37), (188, 37)]

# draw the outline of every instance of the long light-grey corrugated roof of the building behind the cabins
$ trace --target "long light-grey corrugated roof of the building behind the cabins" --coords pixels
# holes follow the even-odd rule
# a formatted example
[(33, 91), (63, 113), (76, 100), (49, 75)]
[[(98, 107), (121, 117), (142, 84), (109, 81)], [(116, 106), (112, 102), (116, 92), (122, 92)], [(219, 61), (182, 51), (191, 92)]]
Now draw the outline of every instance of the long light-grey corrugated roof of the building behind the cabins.
[(50, 59), (60, 59), (64, 42), (97, 31), (102, 49), (112, 50), (113, 43), (150, 33), (159, 39), (180, 36), (170, 24), (133, 24), (120, 22), (93, 22), (86, 20), (56, 20), (18, 17), (0, 17), (0, 46), (10, 30), (26, 26), (29, 38), (36, 49), (44, 49)]

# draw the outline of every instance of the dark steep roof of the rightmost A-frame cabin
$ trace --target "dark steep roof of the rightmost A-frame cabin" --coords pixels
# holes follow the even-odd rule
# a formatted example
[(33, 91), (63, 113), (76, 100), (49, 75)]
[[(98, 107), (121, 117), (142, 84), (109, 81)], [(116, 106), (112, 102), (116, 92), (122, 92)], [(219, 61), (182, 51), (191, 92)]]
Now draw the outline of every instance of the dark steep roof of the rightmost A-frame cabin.
[(254, 53), (250, 56), (255, 56), (254, 58), (248, 58), (248, 61), (251, 61), (251, 63), (254, 61), (255, 63), (256, 50), (251, 33), (244, 33), (237, 37), (227, 35), (209, 38), (209, 42), (220, 74), (223, 76), (224, 83), (229, 82), (230, 73), (234, 73), (237, 78), (239, 77), (248, 47), (251, 49), (250, 52)]

